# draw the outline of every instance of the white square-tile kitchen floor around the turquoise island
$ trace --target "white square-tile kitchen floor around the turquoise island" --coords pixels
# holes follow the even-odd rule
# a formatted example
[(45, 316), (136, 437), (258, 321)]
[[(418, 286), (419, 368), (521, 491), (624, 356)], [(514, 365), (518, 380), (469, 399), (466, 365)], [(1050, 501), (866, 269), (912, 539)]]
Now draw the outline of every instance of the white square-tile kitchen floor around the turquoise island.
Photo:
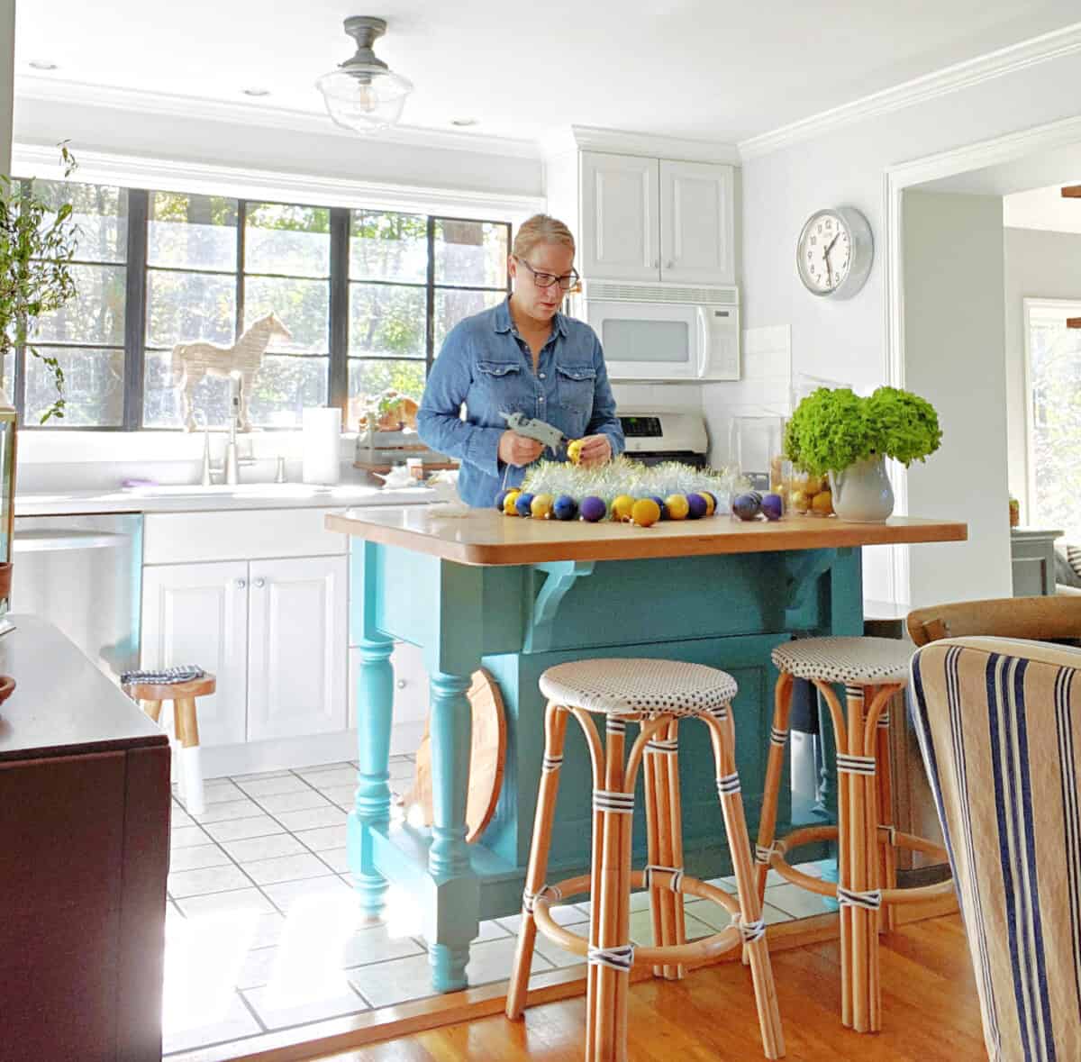
[[(356, 769), (333, 764), (211, 781), (201, 815), (174, 797), (166, 1056), (431, 994), (421, 919), (403, 893), (391, 890), (386, 925), (357, 925), (345, 848)], [(391, 788), (408, 788), (412, 774), (411, 757), (395, 757)], [(728, 879), (719, 884), (732, 891)], [(645, 893), (632, 898), (631, 910), (631, 937), (644, 942)], [(771, 871), (768, 924), (824, 910), (819, 898)], [(589, 904), (553, 913), (583, 931)], [(707, 901), (689, 901), (686, 914), (689, 937), (728, 924)], [(481, 924), (470, 983), (508, 977), (518, 925), (518, 915)], [(577, 961), (538, 938), (534, 972)]]

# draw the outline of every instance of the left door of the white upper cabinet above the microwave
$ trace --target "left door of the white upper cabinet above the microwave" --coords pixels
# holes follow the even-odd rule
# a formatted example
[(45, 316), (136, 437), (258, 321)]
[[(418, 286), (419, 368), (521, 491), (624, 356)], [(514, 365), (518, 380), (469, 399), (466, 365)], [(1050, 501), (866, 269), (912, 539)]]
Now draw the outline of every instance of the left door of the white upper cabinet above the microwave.
[(658, 278), (657, 160), (582, 155), (582, 273), (589, 278)]

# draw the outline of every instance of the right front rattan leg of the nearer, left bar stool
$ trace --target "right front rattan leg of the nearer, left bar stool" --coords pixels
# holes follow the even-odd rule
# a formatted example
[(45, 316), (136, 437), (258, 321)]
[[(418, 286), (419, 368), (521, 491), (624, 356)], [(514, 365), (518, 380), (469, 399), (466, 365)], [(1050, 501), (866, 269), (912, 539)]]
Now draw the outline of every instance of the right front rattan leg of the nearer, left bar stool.
[(729, 709), (702, 718), (709, 727), (713, 745), (717, 793), (724, 815), (724, 831), (736, 875), (743, 937), (747, 945), (751, 980), (755, 985), (762, 1050), (768, 1059), (779, 1059), (785, 1054), (785, 1034), (777, 1009), (777, 991), (773, 983), (773, 967), (765, 940), (765, 927), (762, 924), (762, 904), (758, 898), (750, 861), (750, 838), (747, 836), (747, 820), (744, 817), (739, 775), (736, 772), (735, 727)]

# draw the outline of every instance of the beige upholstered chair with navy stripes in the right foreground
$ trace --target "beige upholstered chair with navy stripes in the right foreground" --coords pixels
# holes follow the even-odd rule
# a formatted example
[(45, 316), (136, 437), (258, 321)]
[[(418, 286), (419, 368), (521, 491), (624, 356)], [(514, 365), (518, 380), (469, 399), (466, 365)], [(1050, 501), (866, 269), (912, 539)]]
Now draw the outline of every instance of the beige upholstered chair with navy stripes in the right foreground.
[(909, 690), (988, 1056), (1081, 1059), (1081, 650), (946, 638)]

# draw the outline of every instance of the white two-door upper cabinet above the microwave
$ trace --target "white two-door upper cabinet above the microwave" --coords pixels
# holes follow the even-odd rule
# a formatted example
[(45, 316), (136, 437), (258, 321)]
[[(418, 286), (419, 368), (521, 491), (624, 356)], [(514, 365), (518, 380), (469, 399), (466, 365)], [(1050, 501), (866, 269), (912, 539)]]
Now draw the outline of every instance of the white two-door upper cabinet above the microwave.
[(578, 175), (577, 203), (555, 175), (549, 209), (576, 217), (584, 277), (735, 283), (733, 167), (582, 151)]

